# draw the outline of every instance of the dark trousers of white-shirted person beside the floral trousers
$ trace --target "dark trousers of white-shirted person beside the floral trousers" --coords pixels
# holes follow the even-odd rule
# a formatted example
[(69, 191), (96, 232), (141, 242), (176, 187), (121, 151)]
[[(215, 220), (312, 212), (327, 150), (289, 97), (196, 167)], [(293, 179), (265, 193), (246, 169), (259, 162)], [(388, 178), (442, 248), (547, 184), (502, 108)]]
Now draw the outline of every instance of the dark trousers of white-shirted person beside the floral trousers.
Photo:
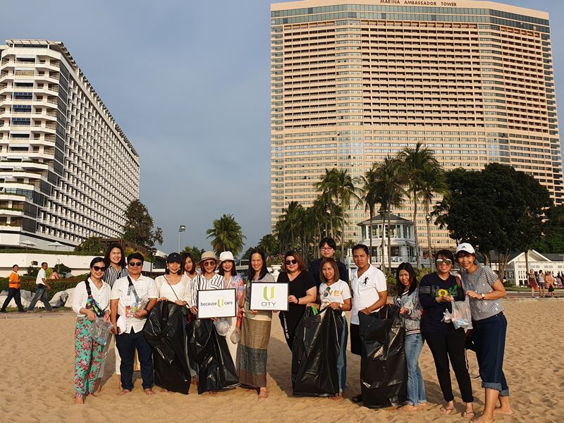
[(145, 341), (143, 331), (135, 333), (122, 333), (116, 336), (119, 355), (121, 357), (121, 387), (131, 391), (133, 389), (133, 360), (135, 350), (141, 364), (141, 378), (143, 389), (152, 388), (154, 385), (153, 352), (151, 346)]

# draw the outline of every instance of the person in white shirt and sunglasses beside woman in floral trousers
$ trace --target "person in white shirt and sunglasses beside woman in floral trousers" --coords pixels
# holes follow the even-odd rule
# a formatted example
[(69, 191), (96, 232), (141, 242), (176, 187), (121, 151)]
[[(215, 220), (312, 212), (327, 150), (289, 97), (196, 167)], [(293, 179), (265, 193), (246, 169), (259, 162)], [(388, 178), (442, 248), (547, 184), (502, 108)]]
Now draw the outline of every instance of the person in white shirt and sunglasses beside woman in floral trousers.
[[(130, 393), (133, 389), (133, 360), (135, 350), (141, 364), (143, 390), (152, 395), (154, 385), (153, 356), (151, 346), (143, 336), (143, 326), (151, 309), (157, 304), (157, 283), (152, 278), (142, 276), (145, 261), (142, 254), (134, 252), (127, 259), (129, 276), (114, 282), (110, 297), (110, 320), (116, 333), (116, 345), (121, 357), (121, 392)], [(118, 328), (118, 316), (123, 318), (123, 331)]]

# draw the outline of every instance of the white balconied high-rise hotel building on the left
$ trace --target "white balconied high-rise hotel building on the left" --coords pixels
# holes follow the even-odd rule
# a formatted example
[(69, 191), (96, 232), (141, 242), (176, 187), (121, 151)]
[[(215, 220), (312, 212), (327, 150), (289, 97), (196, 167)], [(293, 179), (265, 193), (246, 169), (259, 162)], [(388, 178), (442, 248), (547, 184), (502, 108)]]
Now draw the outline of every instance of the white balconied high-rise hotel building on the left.
[[(139, 156), (62, 42), (0, 46), (0, 247), (121, 233)], [(33, 243), (33, 244), (32, 244)]]

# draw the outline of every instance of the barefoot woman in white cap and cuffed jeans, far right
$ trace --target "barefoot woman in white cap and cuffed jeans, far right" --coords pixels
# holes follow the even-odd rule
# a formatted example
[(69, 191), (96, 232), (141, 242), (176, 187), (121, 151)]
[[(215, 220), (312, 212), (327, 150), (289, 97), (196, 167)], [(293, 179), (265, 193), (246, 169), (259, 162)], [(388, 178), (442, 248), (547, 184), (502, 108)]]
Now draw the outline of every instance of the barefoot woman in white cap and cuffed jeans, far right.
[[(493, 270), (477, 264), (472, 245), (458, 245), (456, 259), (462, 267), (462, 287), (470, 298), (472, 340), (482, 388), (486, 389), (484, 412), (473, 422), (489, 423), (494, 421), (494, 415), (513, 414), (509, 387), (503, 374), (507, 319), (503, 315), (501, 298), (505, 297), (505, 288)], [(500, 407), (496, 407), (498, 400)]]

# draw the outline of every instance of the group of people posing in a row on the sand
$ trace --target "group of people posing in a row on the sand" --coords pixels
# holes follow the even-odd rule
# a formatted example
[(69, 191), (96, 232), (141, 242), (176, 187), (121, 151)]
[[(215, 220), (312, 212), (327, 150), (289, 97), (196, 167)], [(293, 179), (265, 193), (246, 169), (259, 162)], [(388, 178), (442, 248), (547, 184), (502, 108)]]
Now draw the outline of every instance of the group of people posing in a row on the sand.
[[(190, 254), (180, 256), (176, 252), (171, 253), (166, 262), (166, 274), (153, 280), (141, 274), (142, 255), (133, 253), (125, 261), (121, 247), (110, 246), (106, 257), (92, 260), (90, 277), (78, 284), (73, 300), (73, 310), (78, 316), (75, 329), (76, 401), (83, 403), (85, 396), (99, 389), (104, 347), (85, 336), (88, 326), (97, 317), (111, 322), (112, 332), (116, 334), (116, 358), (121, 359), (120, 393), (126, 394), (133, 389), (133, 360), (137, 350), (142, 386), (145, 393), (151, 395), (154, 385), (152, 349), (142, 335), (142, 327), (152, 308), (159, 301), (174, 302), (190, 309), (193, 320), (197, 318), (199, 290), (227, 288), (235, 289), (238, 302), (237, 316), (228, 319), (225, 337), (241, 386), (254, 388), (259, 399), (268, 396), (266, 364), (273, 314), (278, 314), (291, 350), (296, 328), (306, 307), (321, 310), (331, 307), (341, 314), (345, 328), (338, 340), (340, 354), (334, 363), (339, 376), (339, 393), (333, 399), (343, 398), (347, 377), (345, 347), (349, 334), (343, 312), (352, 310), (350, 350), (360, 355), (359, 314), (377, 312), (386, 305), (388, 294), (386, 278), (370, 263), (367, 246), (353, 247), (357, 269), (353, 272), (350, 286), (345, 266), (333, 257), (335, 250), (334, 240), (321, 240), (321, 258), (314, 260), (309, 269), (298, 252), (286, 252), (277, 283), (288, 283), (288, 310), (271, 312), (250, 308), (253, 284), (274, 283), (274, 277), (266, 269), (266, 257), (260, 250), (252, 250), (250, 254), (246, 282), (236, 273), (231, 252), (221, 253), (219, 259), (214, 252), (204, 252), (198, 263)], [(451, 273), (455, 260), (461, 267), (460, 277)], [(507, 328), (501, 304), (501, 298), (505, 296), (503, 283), (489, 267), (477, 264), (474, 249), (467, 243), (458, 246), (456, 255), (448, 250), (439, 251), (435, 263), (436, 272), (424, 276), (420, 284), (409, 263), (400, 264), (396, 274), (398, 295), (395, 303), (405, 327), (407, 361), (407, 403), (400, 410), (415, 411), (427, 404), (424, 379), (418, 364), (424, 342), (427, 342), (445, 401), (441, 412), (449, 415), (455, 410), (450, 361), (465, 403), (463, 416), (474, 419), (474, 398), (465, 360), (465, 348), (471, 339), (482, 386), (486, 390), (484, 412), (474, 421), (490, 422), (495, 413), (511, 414), (508, 384), (503, 374)], [(452, 323), (444, 321), (444, 312), (451, 312), (455, 301), (467, 302), (470, 307), (472, 331), (456, 329)], [(231, 336), (234, 331), (240, 333), (240, 337)], [(197, 374), (197, 365), (190, 360), (192, 376)], [(352, 400), (360, 403), (362, 395), (353, 396)], [(496, 406), (497, 403), (499, 406)]]

